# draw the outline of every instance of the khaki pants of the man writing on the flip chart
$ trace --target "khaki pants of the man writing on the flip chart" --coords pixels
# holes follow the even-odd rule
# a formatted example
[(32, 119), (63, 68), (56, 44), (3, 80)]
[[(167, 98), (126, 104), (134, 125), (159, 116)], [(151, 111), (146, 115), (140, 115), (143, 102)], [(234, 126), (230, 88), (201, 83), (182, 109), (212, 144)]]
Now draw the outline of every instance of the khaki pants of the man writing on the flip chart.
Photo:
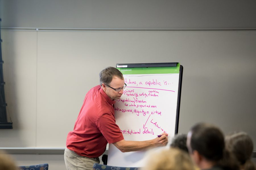
[(68, 148), (65, 149), (64, 160), (67, 170), (92, 170), (94, 163), (100, 163), (99, 157), (88, 158), (80, 156)]

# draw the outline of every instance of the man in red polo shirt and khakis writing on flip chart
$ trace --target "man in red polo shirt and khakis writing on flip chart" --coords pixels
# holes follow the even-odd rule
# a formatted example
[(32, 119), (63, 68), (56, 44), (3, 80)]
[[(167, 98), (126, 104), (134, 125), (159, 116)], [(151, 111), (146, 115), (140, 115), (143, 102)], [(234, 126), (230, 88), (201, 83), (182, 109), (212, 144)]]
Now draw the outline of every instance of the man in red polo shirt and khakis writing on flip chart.
[(93, 87), (85, 96), (75, 122), (74, 130), (67, 136), (64, 159), (68, 170), (92, 169), (99, 163), (99, 156), (113, 143), (121, 152), (144, 150), (165, 146), (167, 134), (162, 133), (148, 141), (125, 141), (120, 128), (115, 124), (115, 100), (120, 99), (126, 84), (122, 73), (107, 67), (100, 72), (100, 85)]

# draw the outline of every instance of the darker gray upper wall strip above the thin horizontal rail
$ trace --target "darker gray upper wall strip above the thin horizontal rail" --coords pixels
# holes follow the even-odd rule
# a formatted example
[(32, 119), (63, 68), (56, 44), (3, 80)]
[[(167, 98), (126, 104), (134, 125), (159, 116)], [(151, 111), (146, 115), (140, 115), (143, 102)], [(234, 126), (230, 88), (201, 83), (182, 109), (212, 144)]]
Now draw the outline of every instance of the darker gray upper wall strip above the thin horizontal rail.
[(1, 0), (3, 27), (256, 28), (255, 0)]

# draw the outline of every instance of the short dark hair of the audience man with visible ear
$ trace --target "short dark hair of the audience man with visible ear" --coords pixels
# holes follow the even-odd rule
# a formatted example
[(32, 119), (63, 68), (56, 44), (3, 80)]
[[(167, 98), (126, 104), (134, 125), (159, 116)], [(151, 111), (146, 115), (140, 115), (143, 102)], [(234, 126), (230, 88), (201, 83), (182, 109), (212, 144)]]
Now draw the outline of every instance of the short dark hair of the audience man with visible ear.
[(190, 147), (209, 161), (223, 158), (225, 148), (224, 136), (216, 126), (199, 123), (191, 128)]

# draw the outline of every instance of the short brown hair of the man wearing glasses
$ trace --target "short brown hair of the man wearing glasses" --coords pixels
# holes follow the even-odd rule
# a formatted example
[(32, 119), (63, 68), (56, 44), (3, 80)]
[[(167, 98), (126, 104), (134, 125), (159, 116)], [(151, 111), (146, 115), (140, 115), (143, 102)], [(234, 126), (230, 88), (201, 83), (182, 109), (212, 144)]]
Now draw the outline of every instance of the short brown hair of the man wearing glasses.
[(123, 79), (123, 74), (115, 67), (107, 67), (103, 69), (100, 72), (100, 86), (102, 86), (102, 83), (108, 85), (112, 81), (113, 76)]

